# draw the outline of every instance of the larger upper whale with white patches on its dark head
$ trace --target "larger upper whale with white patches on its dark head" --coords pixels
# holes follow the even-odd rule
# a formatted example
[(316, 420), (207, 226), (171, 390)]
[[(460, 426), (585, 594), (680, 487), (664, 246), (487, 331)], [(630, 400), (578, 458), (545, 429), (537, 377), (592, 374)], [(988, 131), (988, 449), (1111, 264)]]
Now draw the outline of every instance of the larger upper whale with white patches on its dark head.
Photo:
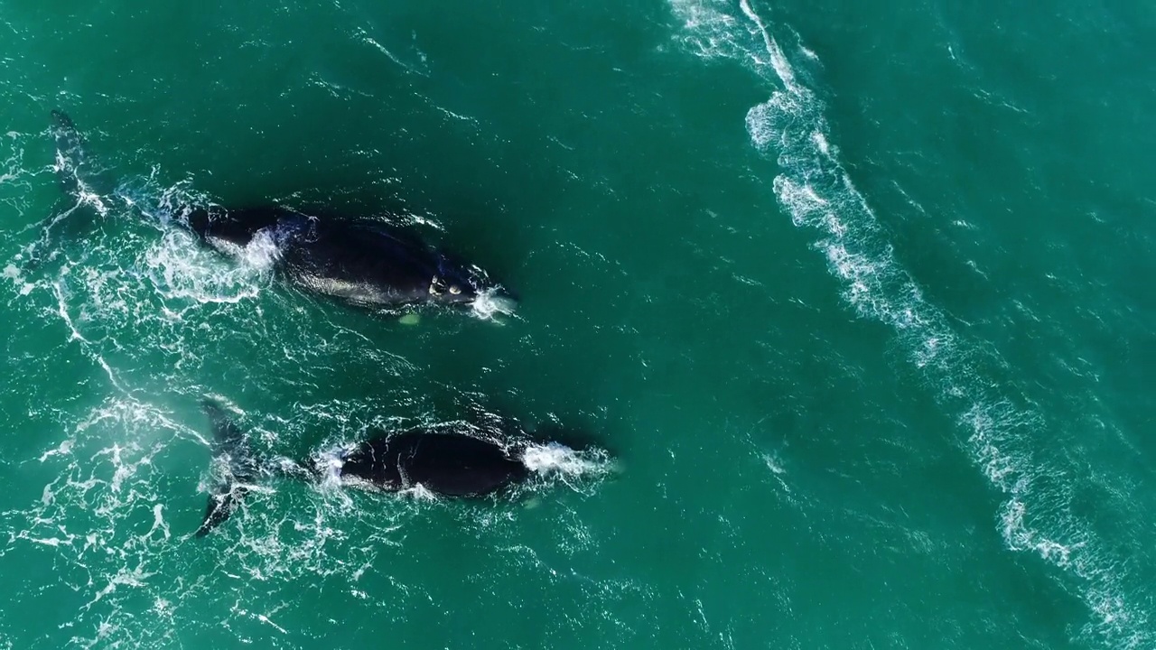
[[(114, 200), (96, 189), (84, 139), (72, 119), (52, 111), (57, 173), (61, 189), (104, 212)], [(205, 244), (240, 257), (267, 246), (275, 274), (309, 293), (369, 309), (418, 305), (472, 308), (488, 316), (510, 313), (517, 298), (481, 267), (428, 245), (416, 235), (372, 219), (306, 214), (282, 206), (229, 209), (188, 206), (181, 222)]]

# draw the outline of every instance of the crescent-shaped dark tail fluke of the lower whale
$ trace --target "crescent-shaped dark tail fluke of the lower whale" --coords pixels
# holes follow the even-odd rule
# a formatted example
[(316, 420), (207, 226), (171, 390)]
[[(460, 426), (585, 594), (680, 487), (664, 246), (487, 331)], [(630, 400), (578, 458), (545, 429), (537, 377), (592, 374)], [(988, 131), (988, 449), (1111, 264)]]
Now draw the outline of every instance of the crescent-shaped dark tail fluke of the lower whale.
[(205, 537), (232, 515), (249, 494), (259, 471), (249, 434), (217, 402), (205, 399), (201, 409), (213, 426), (213, 468), (218, 474), (209, 492), (205, 519), (197, 529), (197, 537)]

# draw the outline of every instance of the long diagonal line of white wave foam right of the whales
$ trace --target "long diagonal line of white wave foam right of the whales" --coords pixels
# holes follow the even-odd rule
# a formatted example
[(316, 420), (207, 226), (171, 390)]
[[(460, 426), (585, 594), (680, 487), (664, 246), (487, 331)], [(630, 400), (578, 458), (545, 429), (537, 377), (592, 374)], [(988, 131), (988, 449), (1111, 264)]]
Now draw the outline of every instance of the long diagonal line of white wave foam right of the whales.
[[(832, 150), (822, 101), (799, 82), (749, 0), (739, 7), (746, 21), (729, 15), (726, 2), (672, 0), (686, 22), (681, 39), (694, 53), (742, 61), (777, 87), (766, 102), (748, 111), (747, 131), (754, 146), (776, 155), (783, 170), (773, 183), (779, 202), (796, 227), (822, 234), (814, 248), (843, 281), (850, 305), (860, 316), (891, 326), (912, 364), (935, 384), (938, 400), (959, 413), (970, 453), (1008, 495), (1000, 515), (1008, 548), (1032, 551), (1087, 581), (1083, 599), (1097, 620), (1085, 633), (1120, 648), (1150, 645), (1147, 612), (1121, 594), (1122, 576), (1113, 570), (1118, 561), (1069, 511), (1047, 508), (1067, 497), (1036, 480), (1043, 470), (1032, 459), (1030, 434), (1045, 428), (1043, 416), (1014, 404), (1007, 386), (979, 372), (984, 365), (1006, 368), (1006, 363), (961, 340), (944, 315), (922, 297)], [(809, 51), (805, 54), (816, 58)], [(1029, 503), (1051, 510), (1051, 520), (1032, 519)]]

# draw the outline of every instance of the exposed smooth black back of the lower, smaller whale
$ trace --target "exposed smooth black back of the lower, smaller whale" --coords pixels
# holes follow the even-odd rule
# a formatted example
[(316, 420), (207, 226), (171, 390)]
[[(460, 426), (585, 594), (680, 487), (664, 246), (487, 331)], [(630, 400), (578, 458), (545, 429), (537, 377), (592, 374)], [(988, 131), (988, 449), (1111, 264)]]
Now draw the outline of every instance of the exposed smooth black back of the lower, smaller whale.
[(461, 433), (413, 429), (380, 433), (350, 452), (341, 467), (381, 489), (416, 485), (444, 496), (482, 496), (529, 474), (501, 445)]

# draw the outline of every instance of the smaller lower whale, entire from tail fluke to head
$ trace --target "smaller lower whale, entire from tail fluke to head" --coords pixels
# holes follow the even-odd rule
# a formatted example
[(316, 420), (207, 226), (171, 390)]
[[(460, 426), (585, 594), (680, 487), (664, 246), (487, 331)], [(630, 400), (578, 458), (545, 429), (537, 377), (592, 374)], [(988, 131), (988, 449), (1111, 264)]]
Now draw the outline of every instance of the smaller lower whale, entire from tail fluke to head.
[(477, 501), (509, 495), (516, 486), (548, 471), (535, 461), (535, 451), (577, 457), (591, 446), (573, 431), (556, 430), (535, 440), (504, 420), (481, 428), (454, 422), (372, 430), (357, 443), (298, 463), (262, 457), (252, 436), (220, 402), (205, 399), (201, 411), (212, 424), (212, 458), (218, 472), (195, 537), (207, 535), (229, 519), (250, 490), (267, 479), (336, 482), (375, 493), (421, 489), (438, 497)]

